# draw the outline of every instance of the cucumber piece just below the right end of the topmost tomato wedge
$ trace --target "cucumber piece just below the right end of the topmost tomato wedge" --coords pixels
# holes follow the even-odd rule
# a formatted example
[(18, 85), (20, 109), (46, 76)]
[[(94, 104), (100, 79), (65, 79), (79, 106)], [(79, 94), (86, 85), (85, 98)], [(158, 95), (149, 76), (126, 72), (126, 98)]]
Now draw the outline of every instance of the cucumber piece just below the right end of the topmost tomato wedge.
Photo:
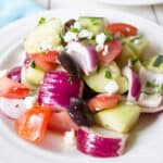
[(141, 55), (148, 47), (148, 40), (142, 36), (128, 37), (126, 38), (126, 43), (128, 43), (139, 59), (141, 59)]

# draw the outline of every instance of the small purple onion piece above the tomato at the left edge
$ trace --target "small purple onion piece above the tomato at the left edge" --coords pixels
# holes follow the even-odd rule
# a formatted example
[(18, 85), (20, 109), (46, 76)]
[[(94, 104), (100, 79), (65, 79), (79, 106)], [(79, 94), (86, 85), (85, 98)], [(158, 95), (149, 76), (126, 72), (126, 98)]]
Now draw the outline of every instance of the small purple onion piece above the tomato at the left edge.
[(14, 82), (21, 83), (21, 70), (22, 70), (22, 66), (16, 66), (16, 67), (12, 68), (8, 73), (8, 77)]

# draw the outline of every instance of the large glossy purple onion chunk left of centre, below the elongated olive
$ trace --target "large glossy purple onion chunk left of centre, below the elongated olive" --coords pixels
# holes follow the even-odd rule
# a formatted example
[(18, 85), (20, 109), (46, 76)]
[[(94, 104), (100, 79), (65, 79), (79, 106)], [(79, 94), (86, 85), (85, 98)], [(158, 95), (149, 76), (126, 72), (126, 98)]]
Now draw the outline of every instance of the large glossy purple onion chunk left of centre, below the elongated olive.
[(82, 91), (83, 83), (77, 77), (70, 77), (66, 72), (49, 72), (39, 88), (38, 102), (64, 110), (70, 105), (70, 99), (80, 97)]

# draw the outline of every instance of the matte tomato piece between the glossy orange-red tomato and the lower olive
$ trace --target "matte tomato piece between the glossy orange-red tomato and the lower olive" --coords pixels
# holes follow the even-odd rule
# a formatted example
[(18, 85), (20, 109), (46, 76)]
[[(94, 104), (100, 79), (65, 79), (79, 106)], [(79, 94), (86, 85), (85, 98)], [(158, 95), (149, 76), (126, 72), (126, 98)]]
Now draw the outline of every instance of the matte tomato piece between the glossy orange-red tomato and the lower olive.
[(73, 122), (67, 111), (53, 112), (49, 123), (49, 129), (53, 131), (64, 133), (71, 129), (77, 129), (77, 125)]

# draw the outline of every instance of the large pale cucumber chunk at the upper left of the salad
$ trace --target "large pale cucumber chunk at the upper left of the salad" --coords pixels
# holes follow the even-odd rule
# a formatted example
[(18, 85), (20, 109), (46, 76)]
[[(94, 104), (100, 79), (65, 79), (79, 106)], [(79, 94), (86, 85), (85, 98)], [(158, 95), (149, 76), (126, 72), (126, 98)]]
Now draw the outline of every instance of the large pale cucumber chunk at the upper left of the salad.
[(62, 23), (59, 18), (51, 18), (36, 26), (24, 40), (25, 51), (39, 53), (58, 47), (61, 43), (62, 30)]

